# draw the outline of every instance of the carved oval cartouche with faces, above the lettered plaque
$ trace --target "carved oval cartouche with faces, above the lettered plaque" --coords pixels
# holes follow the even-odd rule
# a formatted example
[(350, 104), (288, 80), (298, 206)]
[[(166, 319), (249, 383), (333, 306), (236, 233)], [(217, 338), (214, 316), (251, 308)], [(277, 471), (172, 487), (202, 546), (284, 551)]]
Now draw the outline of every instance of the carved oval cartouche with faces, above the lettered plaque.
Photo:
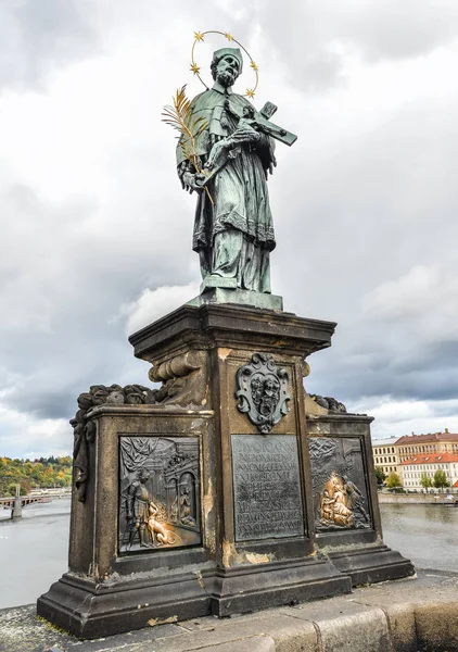
[(254, 353), (250, 364), (237, 372), (238, 409), (246, 414), (259, 432), (266, 435), (290, 411), (289, 375), (278, 369), (268, 353)]

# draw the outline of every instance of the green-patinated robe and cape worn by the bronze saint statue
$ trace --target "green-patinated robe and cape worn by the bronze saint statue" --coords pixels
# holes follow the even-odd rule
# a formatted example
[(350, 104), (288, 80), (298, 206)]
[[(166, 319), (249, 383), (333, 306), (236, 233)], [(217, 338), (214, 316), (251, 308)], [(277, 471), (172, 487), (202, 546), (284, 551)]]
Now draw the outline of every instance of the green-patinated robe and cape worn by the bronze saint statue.
[[(229, 101), (229, 110), (225, 101)], [(191, 102), (192, 117), (204, 116), (208, 128), (198, 140), (203, 167), (215, 142), (230, 136), (250, 102), (236, 93), (208, 89)], [(255, 143), (229, 152), (224, 167), (199, 196), (192, 248), (199, 252), (202, 276), (237, 278), (238, 287), (270, 292), (269, 252), (275, 249), (273, 223), (267, 190), (267, 170), (273, 161), (273, 141), (264, 134)], [(178, 173), (194, 173), (177, 148)]]

